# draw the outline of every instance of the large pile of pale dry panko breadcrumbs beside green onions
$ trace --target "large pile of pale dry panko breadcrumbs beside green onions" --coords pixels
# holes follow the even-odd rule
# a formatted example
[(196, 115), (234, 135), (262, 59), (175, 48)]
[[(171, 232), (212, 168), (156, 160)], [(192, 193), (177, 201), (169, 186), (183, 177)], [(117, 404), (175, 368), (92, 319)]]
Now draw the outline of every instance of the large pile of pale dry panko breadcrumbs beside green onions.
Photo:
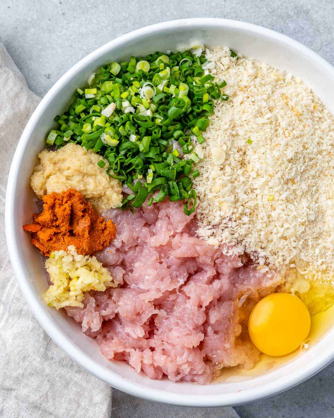
[[(201, 175), (198, 234), (233, 242), (260, 264), (334, 270), (334, 117), (300, 78), (267, 64), (206, 51), (210, 72), (225, 79), (195, 151)], [(228, 248), (228, 247), (227, 247)]]

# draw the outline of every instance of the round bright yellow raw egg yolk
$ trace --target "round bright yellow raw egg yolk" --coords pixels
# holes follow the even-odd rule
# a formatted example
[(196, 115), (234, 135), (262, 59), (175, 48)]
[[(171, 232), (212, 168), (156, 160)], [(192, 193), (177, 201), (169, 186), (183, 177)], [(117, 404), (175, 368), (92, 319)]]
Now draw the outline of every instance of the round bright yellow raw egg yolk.
[(261, 299), (248, 321), (253, 344), (270, 356), (293, 352), (308, 336), (310, 326), (305, 303), (291, 293), (273, 293)]

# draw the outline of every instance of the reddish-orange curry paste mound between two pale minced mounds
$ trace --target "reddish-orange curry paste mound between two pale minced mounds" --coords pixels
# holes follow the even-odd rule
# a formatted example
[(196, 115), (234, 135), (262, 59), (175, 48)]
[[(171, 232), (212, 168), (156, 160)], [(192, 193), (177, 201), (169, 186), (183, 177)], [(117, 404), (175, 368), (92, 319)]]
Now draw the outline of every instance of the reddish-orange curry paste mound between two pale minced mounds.
[(66, 251), (68, 245), (74, 245), (78, 254), (92, 254), (115, 237), (116, 226), (99, 216), (75, 189), (44, 195), (43, 202), (43, 212), (33, 214), (34, 223), (23, 225), (23, 229), (31, 233), (31, 243), (46, 256)]

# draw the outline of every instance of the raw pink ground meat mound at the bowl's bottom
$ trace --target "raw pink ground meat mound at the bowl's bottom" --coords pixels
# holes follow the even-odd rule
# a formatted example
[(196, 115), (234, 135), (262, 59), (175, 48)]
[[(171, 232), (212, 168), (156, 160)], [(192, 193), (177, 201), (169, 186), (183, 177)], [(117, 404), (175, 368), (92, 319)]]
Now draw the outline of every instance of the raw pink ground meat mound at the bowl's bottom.
[(152, 379), (199, 384), (222, 367), (252, 367), (259, 353), (239, 337), (238, 301), (247, 292), (253, 304), (258, 291), (272, 293), (276, 275), (198, 239), (195, 218), (180, 202), (103, 216), (117, 233), (96, 257), (120, 286), (86, 293), (83, 308), (66, 308), (101, 353)]

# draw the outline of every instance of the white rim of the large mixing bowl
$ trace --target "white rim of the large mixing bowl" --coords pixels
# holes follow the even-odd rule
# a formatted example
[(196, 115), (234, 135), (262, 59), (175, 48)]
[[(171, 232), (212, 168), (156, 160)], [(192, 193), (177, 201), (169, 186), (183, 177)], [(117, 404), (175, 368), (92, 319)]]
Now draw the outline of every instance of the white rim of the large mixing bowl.
[[(72, 66), (66, 73), (61, 76), (61, 78), (51, 87), (51, 89), (46, 93), (43, 99), (40, 101), (35, 111), (31, 115), (17, 148), (13, 156), (13, 161), (11, 163), (10, 172), (8, 176), (8, 185), (5, 197), (5, 234), (7, 240), (8, 251), (10, 255), (10, 261), (13, 266), (15, 277), (18, 281), (19, 287), (23, 293), (23, 296), (32, 311), (35, 318), (38, 320), (40, 325), (46, 331), (46, 333), (53, 339), (53, 341), (63, 349), (66, 354), (68, 354), (71, 359), (73, 359), (76, 364), (83, 367), (85, 370), (90, 372), (92, 375), (98, 377), (104, 382), (108, 383), (112, 387), (119, 389), (125, 393), (128, 393), (139, 398), (144, 398), (147, 400), (157, 401), (161, 403), (173, 404), (173, 405), (183, 405), (183, 406), (202, 406), (202, 407), (215, 407), (215, 406), (228, 406), (228, 405), (239, 405), (242, 403), (248, 403), (254, 400), (267, 398), (272, 395), (283, 392), (291, 387), (298, 385), (309, 377), (315, 375), (317, 372), (326, 367), (334, 359), (334, 349), (328, 349), (321, 358), (309, 363), (308, 367), (305, 367), (298, 372), (294, 372), (294, 376), (289, 378), (281, 377), (278, 380), (274, 381), (272, 385), (267, 385), (262, 387), (259, 391), (256, 387), (243, 390), (240, 393), (221, 393), (218, 395), (193, 395), (193, 394), (181, 394), (181, 393), (170, 393), (162, 389), (149, 389), (140, 384), (131, 382), (127, 379), (123, 379), (118, 373), (106, 369), (105, 367), (97, 364), (94, 359), (81, 352), (81, 349), (76, 347), (74, 342), (64, 338), (62, 331), (59, 327), (52, 321), (52, 319), (46, 316), (38, 303), (35, 303), (36, 297), (33, 291), (28, 285), (29, 278), (25, 277), (23, 271), (23, 260), (21, 260), (21, 255), (18, 250), (18, 238), (15, 237), (15, 218), (14, 218), (14, 197), (15, 197), (15, 188), (18, 182), (20, 162), (23, 159), (25, 148), (28, 145), (30, 136), (35, 129), (35, 126), (38, 124), (40, 117), (42, 117), (43, 112), (46, 107), (52, 102), (54, 96), (58, 91), (66, 85), (66, 83), (72, 78), (72, 76), (78, 74), (82, 71), (91, 61), (98, 59), (101, 55), (110, 50), (110, 48), (121, 47), (123, 43), (127, 43), (132, 38), (141, 37), (145, 35), (153, 35), (154, 33), (159, 33), (166, 29), (177, 29), (182, 27), (191, 26), (192, 28), (200, 29), (205, 28), (234, 28), (234, 29), (243, 29), (252, 33), (257, 33), (263, 37), (272, 38), (276, 41), (281, 42), (284, 45), (288, 45), (291, 48), (299, 50), (305, 56), (308, 56), (309, 59), (318, 61), (321, 64), (321, 67), (328, 71), (331, 77), (334, 79), (334, 67), (331, 66), (325, 59), (321, 58), (314, 51), (311, 51), (308, 47), (302, 45), (298, 41), (295, 41), (288, 36), (285, 36), (281, 33), (273, 31), (271, 29), (263, 28), (258, 25), (253, 25), (251, 23), (241, 22), (238, 20), (222, 19), (222, 18), (189, 18), (189, 19), (179, 19), (179, 20), (170, 20), (162, 23), (157, 23), (154, 25), (145, 26), (144, 28), (137, 29), (126, 33), (125, 35), (119, 36), (114, 40), (106, 43), (105, 45), (97, 48), (95, 51), (91, 52), (83, 59), (78, 61), (77, 64)], [(261, 393), (259, 393), (261, 392)]]

